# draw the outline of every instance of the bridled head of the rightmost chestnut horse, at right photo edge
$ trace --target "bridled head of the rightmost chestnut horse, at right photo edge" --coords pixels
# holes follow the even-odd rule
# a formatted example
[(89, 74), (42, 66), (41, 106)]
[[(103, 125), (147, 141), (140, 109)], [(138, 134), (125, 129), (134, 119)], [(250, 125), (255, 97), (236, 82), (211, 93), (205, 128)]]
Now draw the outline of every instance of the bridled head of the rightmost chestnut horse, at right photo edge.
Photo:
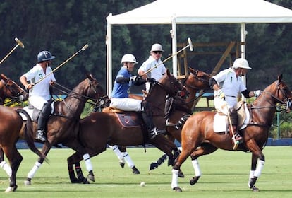
[(274, 102), (274, 104), (285, 104), (286, 110), (290, 111), (292, 110), (292, 93), (286, 83), (282, 80), (282, 77), (282, 74), (279, 75), (278, 80), (265, 88), (261, 95), (265, 96), (266, 98), (268, 95), (271, 95), (271, 100)]

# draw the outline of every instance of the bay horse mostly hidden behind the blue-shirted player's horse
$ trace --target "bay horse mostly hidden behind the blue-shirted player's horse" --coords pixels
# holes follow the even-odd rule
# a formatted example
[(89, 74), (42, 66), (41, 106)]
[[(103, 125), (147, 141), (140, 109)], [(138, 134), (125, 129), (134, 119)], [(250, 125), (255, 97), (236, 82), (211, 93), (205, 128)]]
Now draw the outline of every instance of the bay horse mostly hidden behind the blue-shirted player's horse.
[[(194, 101), (202, 96), (196, 96), (197, 91), (209, 89), (209, 78), (211, 78), (211, 76), (204, 71), (195, 70), (190, 67), (188, 69), (190, 74), (183, 81), (183, 85), (190, 94), (185, 100), (174, 98), (174, 105), (168, 117), (169, 124), (166, 128), (166, 136), (171, 139), (171, 141), (176, 139), (179, 143), (181, 143), (181, 127), (179, 126), (182, 124), (178, 124), (178, 122), (184, 123), (185, 120), (190, 117)], [(167, 156), (164, 154), (156, 162), (152, 162), (150, 164), (150, 170), (158, 168), (166, 158)], [(182, 172), (180, 172), (180, 177), (183, 177)]]

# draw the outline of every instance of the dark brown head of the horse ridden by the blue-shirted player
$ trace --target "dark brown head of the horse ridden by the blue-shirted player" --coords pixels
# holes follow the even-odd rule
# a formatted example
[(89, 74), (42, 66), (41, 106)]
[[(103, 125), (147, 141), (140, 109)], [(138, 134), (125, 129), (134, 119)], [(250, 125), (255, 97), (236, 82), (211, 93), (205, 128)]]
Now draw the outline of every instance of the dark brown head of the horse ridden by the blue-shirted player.
[(158, 83), (170, 96), (185, 98), (188, 95), (188, 91), (174, 75), (170, 74), (169, 69), (166, 69), (166, 74), (164, 74)]

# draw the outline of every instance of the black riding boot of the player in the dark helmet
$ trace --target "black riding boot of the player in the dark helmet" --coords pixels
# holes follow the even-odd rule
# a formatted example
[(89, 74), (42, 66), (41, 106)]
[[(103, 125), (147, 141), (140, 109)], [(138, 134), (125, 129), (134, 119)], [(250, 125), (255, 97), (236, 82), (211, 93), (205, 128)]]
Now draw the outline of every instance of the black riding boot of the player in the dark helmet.
[(39, 119), (37, 121), (37, 134), (35, 136), (35, 139), (46, 141), (47, 135), (46, 132), (44, 132), (44, 129), (46, 127), (49, 115), (51, 115), (51, 103), (44, 103), (42, 111), (39, 115)]

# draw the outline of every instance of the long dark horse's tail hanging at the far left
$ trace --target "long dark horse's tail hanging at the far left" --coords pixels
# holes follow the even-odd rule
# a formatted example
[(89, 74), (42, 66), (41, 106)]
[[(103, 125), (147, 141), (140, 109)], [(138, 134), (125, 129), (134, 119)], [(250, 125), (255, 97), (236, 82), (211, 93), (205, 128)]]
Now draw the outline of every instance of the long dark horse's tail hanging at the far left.
[(28, 115), (28, 112), (26, 112), (23, 109), (16, 109), (16, 112), (18, 112), (18, 114), (22, 113), (26, 117), (24, 134), (25, 134), (25, 141), (28, 144), (28, 147), (30, 148), (32, 152), (36, 153), (37, 156), (45, 159), (46, 156), (44, 156), (44, 154), (42, 154), (42, 152), (39, 151), (37, 147), (35, 146), (35, 138), (33, 134), (32, 120), (30, 119), (30, 115)]

